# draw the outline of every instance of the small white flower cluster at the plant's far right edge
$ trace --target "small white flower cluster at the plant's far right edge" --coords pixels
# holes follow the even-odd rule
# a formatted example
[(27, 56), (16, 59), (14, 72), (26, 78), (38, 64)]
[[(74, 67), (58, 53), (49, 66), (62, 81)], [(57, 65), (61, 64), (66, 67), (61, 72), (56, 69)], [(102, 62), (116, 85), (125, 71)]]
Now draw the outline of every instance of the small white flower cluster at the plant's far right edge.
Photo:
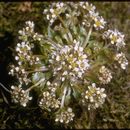
[(122, 69), (126, 69), (126, 66), (128, 65), (128, 60), (125, 57), (124, 53), (118, 53), (115, 56), (115, 60), (118, 61)]

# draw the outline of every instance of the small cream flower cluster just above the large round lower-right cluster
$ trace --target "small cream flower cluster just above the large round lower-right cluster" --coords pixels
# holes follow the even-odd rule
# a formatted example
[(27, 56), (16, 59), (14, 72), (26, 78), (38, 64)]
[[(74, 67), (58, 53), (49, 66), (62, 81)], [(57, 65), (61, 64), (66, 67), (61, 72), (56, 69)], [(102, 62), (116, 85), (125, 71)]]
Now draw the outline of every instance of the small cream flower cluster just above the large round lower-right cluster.
[(110, 70), (107, 69), (105, 66), (102, 66), (99, 72), (100, 72), (100, 76), (99, 76), (100, 82), (102, 84), (108, 84), (112, 79)]

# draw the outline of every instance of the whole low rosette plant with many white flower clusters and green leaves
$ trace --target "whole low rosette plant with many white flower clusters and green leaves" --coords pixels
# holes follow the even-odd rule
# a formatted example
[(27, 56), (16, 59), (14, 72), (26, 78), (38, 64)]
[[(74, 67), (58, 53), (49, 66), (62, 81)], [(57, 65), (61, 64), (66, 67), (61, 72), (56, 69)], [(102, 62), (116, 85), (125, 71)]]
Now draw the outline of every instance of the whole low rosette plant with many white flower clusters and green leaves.
[(101, 107), (113, 75), (127, 69), (124, 35), (107, 29), (88, 2), (51, 3), (43, 16), (43, 34), (35, 32), (32, 21), (19, 31), (9, 71), (18, 79), (11, 86), (12, 101), (26, 107), (34, 89), (38, 106), (67, 125), (78, 118), (76, 106), (85, 111)]

